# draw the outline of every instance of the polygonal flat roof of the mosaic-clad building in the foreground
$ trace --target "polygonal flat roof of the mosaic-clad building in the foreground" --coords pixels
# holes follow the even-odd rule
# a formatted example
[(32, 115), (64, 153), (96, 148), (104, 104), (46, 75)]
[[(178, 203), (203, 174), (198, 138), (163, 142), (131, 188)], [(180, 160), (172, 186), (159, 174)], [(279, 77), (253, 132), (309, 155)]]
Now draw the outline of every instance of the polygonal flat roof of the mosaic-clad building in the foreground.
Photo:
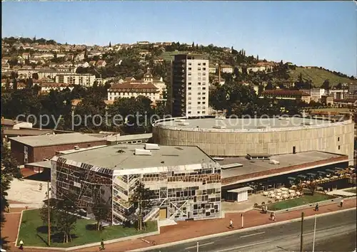
[(145, 145), (111, 145), (64, 154), (61, 158), (114, 170), (216, 163), (196, 146), (160, 145), (160, 149), (151, 150), (151, 156), (134, 154), (135, 149), (144, 149), (144, 147)]

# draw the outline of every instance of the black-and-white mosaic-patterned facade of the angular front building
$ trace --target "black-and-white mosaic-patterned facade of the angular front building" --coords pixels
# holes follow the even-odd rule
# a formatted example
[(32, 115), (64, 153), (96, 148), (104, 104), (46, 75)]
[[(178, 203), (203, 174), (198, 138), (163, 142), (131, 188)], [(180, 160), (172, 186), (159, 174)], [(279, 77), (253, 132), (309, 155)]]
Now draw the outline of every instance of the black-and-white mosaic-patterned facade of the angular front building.
[[(179, 167), (111, 170), (54, 157), (51, 187), (55, 197), (71, 189), (78, 204), (91, 216), (94, 194), (111, 201), (107, 221), (121, 224), (129, 219), (129, 199), (140, 180), (154, 192), (153, 209), (144, 213), (144, 221), (159, 218), (164, 209), (167, 219), (211, 219), (221, 217), (221, 167), (218, 163)], [(161, 216), (162, 218), (162, 216)]]

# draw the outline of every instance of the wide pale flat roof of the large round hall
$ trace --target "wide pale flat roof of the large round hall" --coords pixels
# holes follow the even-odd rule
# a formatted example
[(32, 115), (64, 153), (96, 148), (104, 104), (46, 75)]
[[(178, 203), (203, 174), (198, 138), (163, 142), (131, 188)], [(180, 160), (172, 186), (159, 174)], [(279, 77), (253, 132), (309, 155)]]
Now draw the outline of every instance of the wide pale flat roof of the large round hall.
[[(181, 120), (181, 121), (180, 121)], [(183, 123), (186, 122), (186, 123)], [(301, 130), (315, 127), (329, 127), (351, 123), (350, 120), (332, 122), (311, 117), (276, 117), (276, 118), (170, 118), (159, 120), (156, 127), (171, 130), (207, 131), (207, 132), (266, 132), (278, 130)], [(185, 125), (187, 124), (187, 125)]]

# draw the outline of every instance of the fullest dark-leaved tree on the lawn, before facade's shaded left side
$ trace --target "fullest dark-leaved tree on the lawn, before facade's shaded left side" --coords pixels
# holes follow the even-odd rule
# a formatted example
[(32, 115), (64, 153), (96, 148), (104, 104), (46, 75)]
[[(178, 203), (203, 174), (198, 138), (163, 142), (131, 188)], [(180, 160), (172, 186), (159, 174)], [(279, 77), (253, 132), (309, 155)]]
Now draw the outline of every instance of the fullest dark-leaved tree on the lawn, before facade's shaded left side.
[(61, 192), (61, 199), (57, 201), (56, 214), (57, 231), (63, 234), (64, 243), (72, 241), (71, 231), (76, 228), (78, 217), (74, 215), (77, 211), (76, 196), (72, 191)]

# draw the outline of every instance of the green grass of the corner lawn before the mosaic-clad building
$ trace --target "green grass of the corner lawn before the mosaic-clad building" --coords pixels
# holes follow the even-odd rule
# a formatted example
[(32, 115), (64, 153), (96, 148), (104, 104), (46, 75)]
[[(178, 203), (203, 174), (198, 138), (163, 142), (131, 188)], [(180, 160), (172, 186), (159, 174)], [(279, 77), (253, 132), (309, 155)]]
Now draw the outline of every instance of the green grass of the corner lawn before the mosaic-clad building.
[[(140, 233), (149, 233), (157, 230), (156, 222), (148, 222), (146, 231), (136, 231), (134, 228), (124, 228), (123, 226), (106, 226), (103, 231), (96, 231), (94, 226), (96, 221), (79, 219), (76, 224), (76, 230), (72, 234), (72, 242), (63, 243), (60, 241), (58, 234), (51, 235), (53, 247), (67, 248), (71, 246), (80, 246), (86, 243), (100, 242), (101, 238), (112, 240), (126, 236), (134, 236)], [(19, 232), (19, 239), (24, 241), (26, 246), (47, 246), (47, 226), (43, 226), (39, 209), (24, 211), (21, 220), (21, 227)], [(18, 244), (19, 245), (19, 244)]]

